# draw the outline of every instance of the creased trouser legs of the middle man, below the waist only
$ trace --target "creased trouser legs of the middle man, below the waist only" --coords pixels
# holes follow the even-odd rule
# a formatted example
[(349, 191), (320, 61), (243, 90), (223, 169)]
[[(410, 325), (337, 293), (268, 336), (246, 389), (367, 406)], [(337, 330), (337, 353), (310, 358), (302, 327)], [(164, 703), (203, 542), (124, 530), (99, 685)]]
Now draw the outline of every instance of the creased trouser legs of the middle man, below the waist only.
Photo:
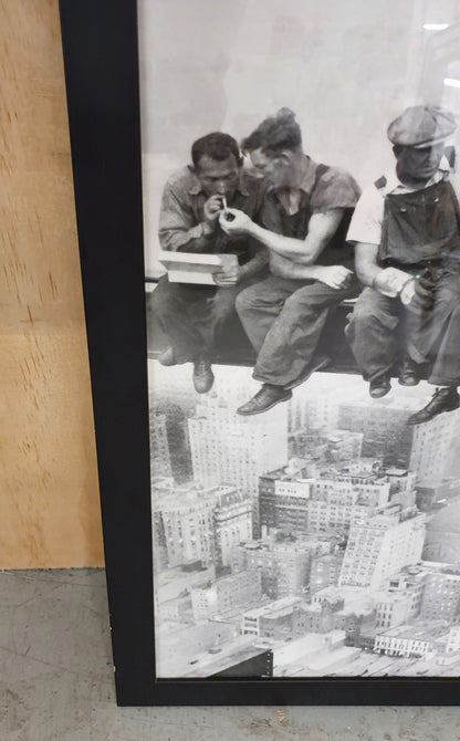
[(331, 307), (357, 293), (357, 281), (336, 290), (320, 281), (276, 275), (242, 291), (237, 312), (258, 352), (254, 378), (276, 386), (299, 378), (313, 358)]

